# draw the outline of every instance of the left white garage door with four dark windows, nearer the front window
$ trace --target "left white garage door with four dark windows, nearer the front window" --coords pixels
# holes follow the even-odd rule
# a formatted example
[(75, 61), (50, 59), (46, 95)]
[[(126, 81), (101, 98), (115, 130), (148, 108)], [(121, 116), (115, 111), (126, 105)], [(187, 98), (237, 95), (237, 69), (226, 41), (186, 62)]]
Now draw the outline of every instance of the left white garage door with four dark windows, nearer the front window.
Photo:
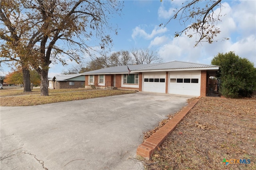
[(166, 73), (144, 73), (142, 91), (165, 93)]

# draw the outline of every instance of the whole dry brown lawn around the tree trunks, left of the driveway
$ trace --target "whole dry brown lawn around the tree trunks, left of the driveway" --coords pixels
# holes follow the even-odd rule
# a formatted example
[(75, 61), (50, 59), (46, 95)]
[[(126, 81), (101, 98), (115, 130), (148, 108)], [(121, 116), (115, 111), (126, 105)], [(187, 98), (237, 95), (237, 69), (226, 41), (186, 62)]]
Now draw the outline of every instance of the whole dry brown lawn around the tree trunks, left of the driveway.
[(49, 89), (49, 96), (40, 96), (40, 89), (33, 89), (30, 93), (24, 93), (23, 90), (1, 90), (0, 106), (42, 105), (128, 93), (135, 92), (124, 90)]

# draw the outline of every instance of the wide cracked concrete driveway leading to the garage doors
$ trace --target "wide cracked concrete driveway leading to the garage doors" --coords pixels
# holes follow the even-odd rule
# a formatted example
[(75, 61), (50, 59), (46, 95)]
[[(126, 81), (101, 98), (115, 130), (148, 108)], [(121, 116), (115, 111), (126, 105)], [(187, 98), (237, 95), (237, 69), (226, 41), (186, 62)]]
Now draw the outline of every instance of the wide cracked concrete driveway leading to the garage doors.
[(1, 107), (0, 167), (142, 170), (143, 132), (189, 96), (138, 92), (27, 107)]

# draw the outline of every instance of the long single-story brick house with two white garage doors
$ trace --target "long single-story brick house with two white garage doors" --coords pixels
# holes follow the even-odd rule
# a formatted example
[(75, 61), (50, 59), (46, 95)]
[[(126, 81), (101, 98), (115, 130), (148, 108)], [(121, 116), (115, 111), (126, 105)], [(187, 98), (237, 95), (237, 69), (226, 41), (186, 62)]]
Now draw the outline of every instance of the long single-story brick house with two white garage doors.
[[(129, 70), (130, 69), (130, 73)], [(136, 91), (206, 96), (209, 77), (219, 66), (172, 61), (142, 65), (116, 66), (81, 73), (85, 87), (113, 87)]]

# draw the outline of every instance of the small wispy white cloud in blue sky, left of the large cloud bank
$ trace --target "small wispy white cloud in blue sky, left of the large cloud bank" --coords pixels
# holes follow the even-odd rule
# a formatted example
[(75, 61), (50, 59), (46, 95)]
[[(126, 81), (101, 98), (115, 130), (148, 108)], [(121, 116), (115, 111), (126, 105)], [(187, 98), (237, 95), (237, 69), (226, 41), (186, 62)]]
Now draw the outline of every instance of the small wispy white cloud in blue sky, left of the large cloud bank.
[(155, 26), (155, 28), (152, 30), (152, 32), (150, 34), (148, 34), (148, 33), (146, 33), (146, 31), (141, 29), (139, 26), (136, 26), (132, 30), (132, 38), (136, 39), (136, 37), (142, 37), (146, 40), (150, 40), (150, 39), (154, 38), (154, 36), (156, 36), (158, 34), (165, 33), (166, 31), (167, 31), (167, 28), (160, 28), (158, 26)]

